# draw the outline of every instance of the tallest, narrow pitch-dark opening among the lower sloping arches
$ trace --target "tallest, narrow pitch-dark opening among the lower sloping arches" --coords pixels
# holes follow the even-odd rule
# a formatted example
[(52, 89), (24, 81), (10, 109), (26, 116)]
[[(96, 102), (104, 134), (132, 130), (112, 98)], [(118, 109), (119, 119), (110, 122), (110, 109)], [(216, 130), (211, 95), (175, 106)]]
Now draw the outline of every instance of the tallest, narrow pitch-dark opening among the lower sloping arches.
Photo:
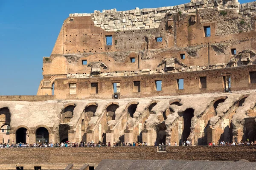
[[(190, 128), (191, 128), (191, 119), (192, 117), (194, 117), (194, 109), (192, 108), (188, 108), (183, 112), (179, 113), (179, 116), (182, 117), (183, 119), (183, 131), (181, 134), (179, 134), (179, 138), (180, 138), (180, 144), (182, 144), (182, 142), (186, 142), (186, 140), (188, 139), (189, 135), (190, 135)], [(181, 127), (179, 127), (181, 128)], [(179, 131), (181, 131), (179, 129)]]

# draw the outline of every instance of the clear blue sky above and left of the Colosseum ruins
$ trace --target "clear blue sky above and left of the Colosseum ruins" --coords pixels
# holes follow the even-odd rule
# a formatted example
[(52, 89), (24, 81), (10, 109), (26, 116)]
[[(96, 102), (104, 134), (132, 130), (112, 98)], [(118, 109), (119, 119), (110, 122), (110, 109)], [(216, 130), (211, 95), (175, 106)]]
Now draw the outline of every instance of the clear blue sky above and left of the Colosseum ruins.
[[(157, 2), (157, 3), (156, 3)], [(0, 0), (0, 95), (36, 95), (42, 57), (50, 56), (70, 13), (156, 8), (189, 0)], [(250, 0), (240, 0), (240, 3)]]

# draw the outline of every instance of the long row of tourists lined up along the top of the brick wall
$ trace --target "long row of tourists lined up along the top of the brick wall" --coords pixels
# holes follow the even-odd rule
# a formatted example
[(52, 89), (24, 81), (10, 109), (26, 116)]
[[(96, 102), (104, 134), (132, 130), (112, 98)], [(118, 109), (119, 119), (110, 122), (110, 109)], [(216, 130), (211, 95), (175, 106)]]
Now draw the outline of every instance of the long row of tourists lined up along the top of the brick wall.
[[(175, 142), (173, 145), (171, 144), (171, 142), (169, 142), (168, 144), (164, 144), (159, 143), (159, 146), (189, 146), (191, 145), (190, 142), (187, 140), (186, 142), (182, 142), (180, 144), (177, 144), (177, 142)], [(208, 144), (209, 146), (239, 146), (239, 145), (244, 145), (244, 146), (251, 146), (254, 145), (256, 146), (256, 141), (251, 141), (249, 142), (249, 140), (247, 139), (247, 142), (217, 142), (217, 144), (215, 144), (214, 142), (209, 142)], [(4, 148), (4, 147), (118, 147), (118, 146), (122, 146), (122, 147), (140, 147), (140, 146), (148, 146), (147, 142), (133, 142), (133, 143), (129, 143), (129, 142), (114, 142), (113, 144), (111, 144), (111, 142), (99, 142), (99, 143), (94, 143), (94, 142), (61, 142), (61, 143), (33, 143), (33, 144), (28, 144), (28, 143), (17, 143), (17, 144), (9, 144), (9, 143), (1, 143), (0, 144), (0, 148)], [(154, 146), (157, 146), (157, 142), (154, 142)]]

